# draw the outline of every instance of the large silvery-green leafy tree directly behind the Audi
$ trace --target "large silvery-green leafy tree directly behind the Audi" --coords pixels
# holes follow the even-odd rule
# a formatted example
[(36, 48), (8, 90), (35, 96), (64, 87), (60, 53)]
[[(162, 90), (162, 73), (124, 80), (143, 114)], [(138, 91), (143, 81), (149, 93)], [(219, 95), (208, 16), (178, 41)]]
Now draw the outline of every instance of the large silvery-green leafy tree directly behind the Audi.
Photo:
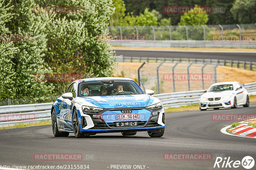
[[(69, 4), (68, 4), (69, 3)], [(41, 15), (46, 23), (47, 48), (44, 60), (53, 74), (80, 78), (105, 77), (113, 73), (114, 53), (107, 42), (98, 39), (108, 34), (105, 28), (114, 8), (110, 0), (50, 2), (50, 6), (80, 6), (79, 14)], [(74, 78), (76, 79), (76, 78)], [(54, 81), (54, 92), (63, 93), (72, 80)]]

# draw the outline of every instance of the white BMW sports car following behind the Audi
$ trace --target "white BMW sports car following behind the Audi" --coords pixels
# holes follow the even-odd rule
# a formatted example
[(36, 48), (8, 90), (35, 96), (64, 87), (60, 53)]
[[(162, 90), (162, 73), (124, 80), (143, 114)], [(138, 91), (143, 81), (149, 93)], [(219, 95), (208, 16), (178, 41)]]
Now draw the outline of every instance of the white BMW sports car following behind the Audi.
[(236, 81), (212, 84), (199, 99), (200, 110), (221, 107), (237, 108), (237, 105), (249, 107), (249, 96), (245, 88)]

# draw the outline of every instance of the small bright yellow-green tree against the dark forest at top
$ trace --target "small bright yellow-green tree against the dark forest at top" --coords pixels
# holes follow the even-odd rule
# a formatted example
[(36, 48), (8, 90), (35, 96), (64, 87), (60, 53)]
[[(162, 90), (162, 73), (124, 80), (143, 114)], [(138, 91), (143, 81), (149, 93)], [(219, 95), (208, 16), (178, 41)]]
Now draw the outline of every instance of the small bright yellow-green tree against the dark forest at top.
[[(202, 10), (202, 8), (201, 8)], [(180, 17), (180, 23), (178, 25), (205, 25), (208, 21), (208, 14), (206, 12), (199, 12), (200, 7), (195, 6)]]

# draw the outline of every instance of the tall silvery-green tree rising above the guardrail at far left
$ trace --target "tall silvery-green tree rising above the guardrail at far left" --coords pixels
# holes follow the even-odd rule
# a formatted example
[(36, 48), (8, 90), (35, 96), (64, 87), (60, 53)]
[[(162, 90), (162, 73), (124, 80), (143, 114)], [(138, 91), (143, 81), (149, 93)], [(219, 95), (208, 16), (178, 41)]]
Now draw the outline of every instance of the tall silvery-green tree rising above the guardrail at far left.
[[(8, 3), (7, 3), (8, 4)], [(36, 74), (50, 74), (51, 68), (43, 60), (47, 51), (45, 39), (45, 23), (40, 22), (32, 9), (36, 4), (33, 0), (11, 1), (13, 18), (6, 23), (10, 34), (22, 37), (28, 35), (33, 39), (28, 41), (13, 42), (14, 47), (19, 50), (11, 58), (12, 68), (15, 70), (12, 81), (14, 81), (14, 91), (11, 98), (27, 99), (34, 98), (44, 100), (52, 92), (52, 85), (44, 81), (35, 81)]]

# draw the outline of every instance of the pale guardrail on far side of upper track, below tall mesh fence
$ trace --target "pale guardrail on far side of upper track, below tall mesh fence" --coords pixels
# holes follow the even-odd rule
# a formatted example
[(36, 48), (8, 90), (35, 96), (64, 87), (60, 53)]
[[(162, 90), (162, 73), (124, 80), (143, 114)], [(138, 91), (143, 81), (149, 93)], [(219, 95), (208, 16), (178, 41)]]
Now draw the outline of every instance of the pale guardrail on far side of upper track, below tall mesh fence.
[(212, 42), (211, 40), (146, 40), (116, 41), (111, 46), (158, 48), (256, 48), (255, 42)]

